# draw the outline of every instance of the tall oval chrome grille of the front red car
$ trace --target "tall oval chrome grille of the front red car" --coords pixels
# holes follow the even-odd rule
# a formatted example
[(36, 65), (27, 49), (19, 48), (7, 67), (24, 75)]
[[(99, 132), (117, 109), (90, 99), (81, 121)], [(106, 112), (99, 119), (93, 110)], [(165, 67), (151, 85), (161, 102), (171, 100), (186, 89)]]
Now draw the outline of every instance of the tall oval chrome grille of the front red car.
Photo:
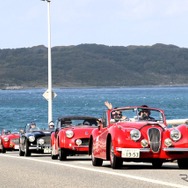
[(159, 152), (161, 146), (161, 133), (160, 130), (157, 128), (150, 128), (148, 130), (148, 137), (150, 141), (150, 148), (152, 152), (157, 153)]

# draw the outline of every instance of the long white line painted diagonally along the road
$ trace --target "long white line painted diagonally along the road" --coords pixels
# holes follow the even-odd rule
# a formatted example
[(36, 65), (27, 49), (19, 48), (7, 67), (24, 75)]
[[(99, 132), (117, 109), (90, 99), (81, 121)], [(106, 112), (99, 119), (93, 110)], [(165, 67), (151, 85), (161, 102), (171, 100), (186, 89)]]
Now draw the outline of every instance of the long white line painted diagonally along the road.
[(165, 182), (165, 181), (161, 181), (161, 180), (159, 181), (159, 180), (144, 178), (144, 177), (140, 177), (140, 176), (133, 176), (133, 175), (129, 175), (129, 174), (120, 174), (120, 173), (117, 173), (117, 172), (100, 170), (98, 168), (92, 168), (91, 169), (91, 168), (82, 167), (82, 166), (75, 166), (75, 165), (71, 165), (71, 164), (65, 164), (63, 162), (60, 163), (59, 161), (58, 162), (42, 161), (42, 160), (39, 160), (39, 159), (36, 159), (36, 158), (11, 156), (11, 155), (0, 155), (0, 157), (10, 157), (10, 158), (17, 158), (17, 159), (22, 159), (22, 160), (30, 160), (30, 161), (36, 161), (36, 162), (41, 162), (41, 163), (48, 163), (48, 164), (53, 164), (53, 165), (58, 165), (58, 166), (66, 166), (66, 167), (82, 169), (82, 170), (87, 170), (87, 171), (92, 171), (92, 172), (99, 172), (99, 173), (110, 174), (110, 175), (114, 175), (114, 176), (126, 177), (126, 178), (135, 179), (135, 180), (139, 180), (139, 181), (154, 183), (154, 184), (157, 184), (157, 185), (166, 185), (166, 186), (169, 186), (169, 187), (187, 188), (187, 186), (179, 185), (179, 184), (176, 184), (176, 183), (169, 183), (169, 182)]

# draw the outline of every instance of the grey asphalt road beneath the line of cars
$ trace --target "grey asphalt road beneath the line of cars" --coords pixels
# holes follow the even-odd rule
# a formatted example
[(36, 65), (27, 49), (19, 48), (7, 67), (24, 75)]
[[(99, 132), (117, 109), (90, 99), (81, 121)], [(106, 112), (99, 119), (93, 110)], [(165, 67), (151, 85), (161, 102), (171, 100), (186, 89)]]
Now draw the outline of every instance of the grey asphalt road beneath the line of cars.
[(0, 153), (1, 188), (188, 188), (188, 170), (176, 163), (153, 169), (147, 163), (123, 163), (111, 169), (109, 161), (93, 167), (89, 156), (71, 156), (67, 161), (49, 155), (20, 157), (18, 152)]

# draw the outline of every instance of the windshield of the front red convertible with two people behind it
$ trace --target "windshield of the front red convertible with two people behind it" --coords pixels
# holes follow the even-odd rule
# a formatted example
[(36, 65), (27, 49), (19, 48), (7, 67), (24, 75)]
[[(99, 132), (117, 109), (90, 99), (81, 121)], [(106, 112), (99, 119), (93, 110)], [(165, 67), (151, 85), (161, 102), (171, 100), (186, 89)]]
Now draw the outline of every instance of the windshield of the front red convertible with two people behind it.
[[(119, 116), (119, 117), (118, 117)], [(123, 118), (127, 121), (155, 121), (164, 123), (163, 114), (157, 109), (150, 108), (120, 108), (111, 112), (111, 119)]]

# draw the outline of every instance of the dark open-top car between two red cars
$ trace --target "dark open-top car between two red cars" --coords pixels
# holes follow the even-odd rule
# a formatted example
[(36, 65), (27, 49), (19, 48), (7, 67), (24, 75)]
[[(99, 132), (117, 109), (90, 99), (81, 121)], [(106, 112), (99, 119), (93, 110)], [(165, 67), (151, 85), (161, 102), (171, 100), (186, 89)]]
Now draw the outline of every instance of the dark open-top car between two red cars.
[(25, 129), (20, 131), (19, 155), (31, 156), (31, 153), (50, 154), (50, 136), (52, 132), (53, 130), (50, 129), (31, 128), (30, 125), (26, 125)]

